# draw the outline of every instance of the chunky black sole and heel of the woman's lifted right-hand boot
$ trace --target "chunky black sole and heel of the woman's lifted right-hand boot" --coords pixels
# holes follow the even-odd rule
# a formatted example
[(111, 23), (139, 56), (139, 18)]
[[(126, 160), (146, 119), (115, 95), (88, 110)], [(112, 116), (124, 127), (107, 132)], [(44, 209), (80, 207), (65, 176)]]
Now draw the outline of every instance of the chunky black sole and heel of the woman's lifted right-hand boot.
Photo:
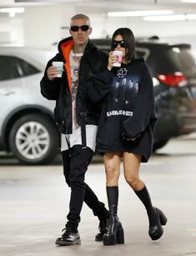
[(158, 211), (158, 225), (157, 225), (157, 230), (156, 230), (156, 232), (153, 232), (153, 233), (151, 233), (150, 230), (149, 230), (149, 232), (148, 232), (150, 238), (151, 238), (153, 241), (154, 241), (154, 240), (158, 240), (159, 238), (162, 237), (162, 235), (163, 235), (163, 228), (162, 228), (162, 226), (165, 226), (166, 223), (167, 223), (167, 221), (168, 221), (168, 219), (166, 218), (166, 216), (164, 215), (164, 213), (163, 213), (161, 210), (159, 210), (159, 209), (157, 208), (157, 211)]

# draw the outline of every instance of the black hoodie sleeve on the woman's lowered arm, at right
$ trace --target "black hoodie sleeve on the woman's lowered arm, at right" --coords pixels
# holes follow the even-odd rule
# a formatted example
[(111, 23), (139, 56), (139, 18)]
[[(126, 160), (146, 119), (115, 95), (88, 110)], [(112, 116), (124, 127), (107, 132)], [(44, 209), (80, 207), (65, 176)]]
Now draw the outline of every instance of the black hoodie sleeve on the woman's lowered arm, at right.
[(141, 136), (150, 122), (152, 111), (154, 111), (153, 80), (147, 68), (146, 74), (138, 85), (133, 116), (123, 122), (125, 137), (136, 139)]

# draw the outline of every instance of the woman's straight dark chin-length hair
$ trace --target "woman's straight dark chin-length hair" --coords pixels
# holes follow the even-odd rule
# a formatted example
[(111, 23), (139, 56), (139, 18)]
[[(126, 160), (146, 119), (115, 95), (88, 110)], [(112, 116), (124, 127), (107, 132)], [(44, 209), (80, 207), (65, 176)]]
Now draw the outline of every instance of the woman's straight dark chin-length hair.
[(135, 56), (135, 38), (133, 32), (129, 28), (118, 28), (113, 33), (112, 42), (111, 42), (111, 49), (113, 50), (113, 41), (114, 38), (118, 35), (121, 35), (123, 38), (124, 43), (126, 44), (126, 54), (125, 60), (131, 61), (134, 59)]

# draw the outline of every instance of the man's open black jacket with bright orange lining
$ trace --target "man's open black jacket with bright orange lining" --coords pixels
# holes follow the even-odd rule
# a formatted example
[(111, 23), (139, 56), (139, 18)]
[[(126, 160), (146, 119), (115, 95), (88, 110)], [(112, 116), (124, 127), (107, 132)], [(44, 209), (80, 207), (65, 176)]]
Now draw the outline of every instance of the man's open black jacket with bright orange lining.
[[(56, 100), (54, 119), (59, 131), (64, 134), (72, 133), (72, 85), (69, 68), (69, 54), (73, 49), (73, 38), (63, 39), (58, 44), (58, 54), (48, 61), (43, 79), (41, 80), (41, 93), (48, 100)], [(64, 72), (62, 78), (48, 79), (47, 69), (52, 66), (53, 61), (63, 61)], [(88, 88), (88, 79), (102, 72), (107, 67), (108, 56), (99, 51), (97, 47), (88, 40), (84, 50), (79, 68), (79, 83), (76, 98), (76, 112), (78, 125), (81, 125), (81, 115), (86, 115), (87, 125), (98, 125), (98, 105), (85, 100)]]

